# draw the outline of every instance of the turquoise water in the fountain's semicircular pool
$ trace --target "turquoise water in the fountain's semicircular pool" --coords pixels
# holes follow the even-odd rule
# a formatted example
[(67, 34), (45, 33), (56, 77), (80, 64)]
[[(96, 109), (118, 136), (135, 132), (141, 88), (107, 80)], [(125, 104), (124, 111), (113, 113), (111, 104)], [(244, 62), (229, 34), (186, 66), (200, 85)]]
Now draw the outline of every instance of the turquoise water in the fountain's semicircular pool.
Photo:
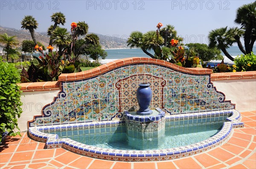
[(50, 134), (58, 134), (59, 138), (70, 138), (83, 144), (107, 149), (152, 150), (187, 146), (204, 141), (217, 134), (222, 125), (223, 121), (213, 124), (166, 127), (165, 135), (147, 140), (128, 137), (125, 126), (107, 127), (102, 133), (101, 128), (98, 132), (96, 129), (73, 130), (73, 135), (69, 136), (67, 131), (50, 132)]

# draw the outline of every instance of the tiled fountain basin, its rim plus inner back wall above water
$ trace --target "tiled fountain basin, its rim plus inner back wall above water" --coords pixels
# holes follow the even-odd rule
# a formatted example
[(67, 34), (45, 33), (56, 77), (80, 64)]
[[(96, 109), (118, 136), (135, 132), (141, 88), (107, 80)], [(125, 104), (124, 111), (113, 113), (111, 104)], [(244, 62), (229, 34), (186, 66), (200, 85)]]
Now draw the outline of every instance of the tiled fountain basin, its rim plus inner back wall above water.
[[(122, 132), (125, 130), (125, 121), (99, 121), (81, 124), (62, 124), (42, 127), (29, 127), (29, 136), (37, 141), (46, 142), (47, 148), (63, 147), (70, 151), (87, 155), (94, 158), (107, 159), (113, 161), (160, 161), (175, 158), (186, 157), (197, 154), (228, 141), (232, 128), (243, 127), (244, 124), (239, 121), (240, 114), (236, 110), (224, 110), (207, 113), (191, 113), (171, 115), (165, 117), (167, 127), (174, 126), (193, 126), (195, 123), (216, 123), (216, 121), (226, 121), (221, 130), (210, 138), (195, 144), (186, 146), (178, 146), (173, 148), (149, 149), (149, 150), (125, 150), (102, 148), (93, 145), (79, 143), (71, 138), (60, 138), (60, 132), (68, 136), (78, 132), (79, 130), (87, 130), (89, 132)], [(195, 122), (196, 121), (196, 122)], [(113, 127), (113, 129), (111, 129)], [(108, 130), (107, 130), (108, 128)], [(55, 134), (50, 134), (55, 133)], [(58, 134), (57, 134), (58, 133)], [(81, 134), (81, 133), (80, 133)], [(83, 134), (85, 132), (83, 131)], [(62, 136), (63, 137), (63, 136)]]

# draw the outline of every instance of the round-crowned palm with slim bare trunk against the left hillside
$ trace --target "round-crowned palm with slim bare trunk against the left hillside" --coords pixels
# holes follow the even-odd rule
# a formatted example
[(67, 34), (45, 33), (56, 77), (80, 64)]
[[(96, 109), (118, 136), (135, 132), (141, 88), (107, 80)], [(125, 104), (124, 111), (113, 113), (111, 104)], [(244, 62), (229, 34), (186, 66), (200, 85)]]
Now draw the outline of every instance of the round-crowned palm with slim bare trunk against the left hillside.
[(29, 30), (31, 37), (36, 45), (37, 41), (35, 39), (35, 29), (38, 27), (38, 22), (31, 15), (27, 15), (21, 21), (21, 25), (22, 25), (21, 28)]

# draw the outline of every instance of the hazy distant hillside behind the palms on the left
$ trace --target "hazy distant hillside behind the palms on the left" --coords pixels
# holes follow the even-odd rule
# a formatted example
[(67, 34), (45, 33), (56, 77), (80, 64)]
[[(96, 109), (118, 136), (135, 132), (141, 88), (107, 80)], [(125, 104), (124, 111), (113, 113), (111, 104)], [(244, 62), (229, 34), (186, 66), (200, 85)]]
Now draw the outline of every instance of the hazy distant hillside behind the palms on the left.
[[(32, 40), (30, 32), (25, 29), (17, 30), (15, 28), (0, 26), (0, 34), (4, 33), (8, 34), (9, 36), (16, 36), (20, 43), (23, 40)], [(89, 32), (88, 34), (91, 34), (91, 32)], [(126, 39), (121, 39), (119, 37), (111, 37), (109, 35), (102, 34), (97, 35), (99, 36), (100, 44), (104, 49), (127, 48)], [(49, 45), (49, 37), (47, 36), (47, 32), (35, 32), (35, 38), (37, 39), (37, 41), (41, 42), (46, 47)], [(3, 45), (0, 44), (0, 47), (3, 47)]]

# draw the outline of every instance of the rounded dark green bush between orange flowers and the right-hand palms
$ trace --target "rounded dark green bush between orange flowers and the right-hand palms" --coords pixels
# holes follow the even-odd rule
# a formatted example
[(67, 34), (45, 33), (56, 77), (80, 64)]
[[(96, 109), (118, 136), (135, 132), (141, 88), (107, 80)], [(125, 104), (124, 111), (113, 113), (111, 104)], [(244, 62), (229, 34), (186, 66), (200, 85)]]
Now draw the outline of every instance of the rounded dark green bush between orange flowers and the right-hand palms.
[[(201, 44), (201, 43), (189, 43), (189, 44), (186, 44), (186, 46), (189, 48), (195, 48), (195, 51), (197, 51), (198, 56), (203, 61), (210, 61), (212, 59), (216, 59), (216, 60), (223, 59), (223, 56), (221, 55), (221, 51), (219, 49), (217, 49), (216, 47), (209, 48), (208, 45)], [(189, 51), (189, 49), (186, 49), (186, 53), (188, 51)]]

